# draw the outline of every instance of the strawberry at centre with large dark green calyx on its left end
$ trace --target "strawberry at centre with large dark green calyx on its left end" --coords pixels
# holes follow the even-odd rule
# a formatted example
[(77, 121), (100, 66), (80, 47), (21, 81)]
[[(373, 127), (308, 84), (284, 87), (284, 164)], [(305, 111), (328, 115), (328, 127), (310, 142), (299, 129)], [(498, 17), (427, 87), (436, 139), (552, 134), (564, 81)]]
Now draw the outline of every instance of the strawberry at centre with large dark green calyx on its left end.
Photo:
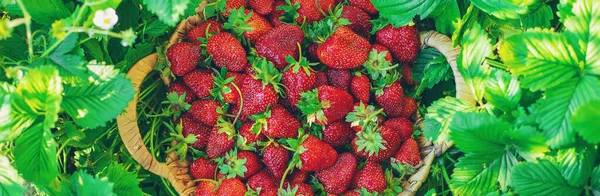
[(326, 125), (340, 120), (352, 111), (352, 96), (333, 86), (321, 86), (302, 93), (298, 108), (307, 116), (308, 123)]

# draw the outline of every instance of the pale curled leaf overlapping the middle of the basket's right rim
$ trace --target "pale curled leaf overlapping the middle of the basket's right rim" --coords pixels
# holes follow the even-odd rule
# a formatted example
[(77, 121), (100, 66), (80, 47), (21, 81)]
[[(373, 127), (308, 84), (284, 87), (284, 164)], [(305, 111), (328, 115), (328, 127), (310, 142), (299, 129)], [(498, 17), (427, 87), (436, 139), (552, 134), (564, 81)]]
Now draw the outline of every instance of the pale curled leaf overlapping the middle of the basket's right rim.
[(446, 97), (433, 102), (427, 108), (423, 122), (425, 138), (433, 142), (447, 140), (452, 117), (457, 112), (469, 112), (476, 109), (473, 105), (454, 97)]

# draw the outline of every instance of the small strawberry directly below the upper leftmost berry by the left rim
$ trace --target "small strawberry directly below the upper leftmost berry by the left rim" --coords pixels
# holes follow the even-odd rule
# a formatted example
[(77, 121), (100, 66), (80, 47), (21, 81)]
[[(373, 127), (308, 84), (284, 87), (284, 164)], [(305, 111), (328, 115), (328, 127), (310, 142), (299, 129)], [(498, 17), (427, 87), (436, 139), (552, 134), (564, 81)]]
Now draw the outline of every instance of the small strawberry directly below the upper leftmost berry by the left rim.
[(183, 76), (183, 82), (190, 87), (194, 94), (202, 99), (210, 95), (213, 88), (213, 72), (208, 69), (196, 69)]

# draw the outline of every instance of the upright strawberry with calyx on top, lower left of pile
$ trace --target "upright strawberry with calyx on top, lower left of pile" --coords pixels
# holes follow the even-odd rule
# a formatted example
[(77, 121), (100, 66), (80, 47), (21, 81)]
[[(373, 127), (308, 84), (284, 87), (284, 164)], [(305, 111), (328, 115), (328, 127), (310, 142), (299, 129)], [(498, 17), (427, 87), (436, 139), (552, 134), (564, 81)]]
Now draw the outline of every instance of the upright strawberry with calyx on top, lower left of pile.
[(224, 155), (227, 151), (233, 148), (235, 140), (235, 128), (230, 122), (225, 121), (222, 117), (219, 118), (219, 123), (213, 127), (208, 137), (206, 145), (206, 154), (211, 159)]

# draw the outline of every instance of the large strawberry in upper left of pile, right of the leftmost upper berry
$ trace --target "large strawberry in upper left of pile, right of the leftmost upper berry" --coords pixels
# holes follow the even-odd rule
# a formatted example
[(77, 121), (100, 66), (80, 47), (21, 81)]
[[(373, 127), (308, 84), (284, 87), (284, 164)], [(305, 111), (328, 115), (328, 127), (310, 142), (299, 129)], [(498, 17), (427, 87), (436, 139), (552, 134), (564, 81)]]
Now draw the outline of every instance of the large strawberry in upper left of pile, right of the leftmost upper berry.
[(230, 33), (221, 32), (208, 38), (206, 50), (218, 68), (226, 67), (228, 71), (240, 72), (248, 64), (246, 50)]

